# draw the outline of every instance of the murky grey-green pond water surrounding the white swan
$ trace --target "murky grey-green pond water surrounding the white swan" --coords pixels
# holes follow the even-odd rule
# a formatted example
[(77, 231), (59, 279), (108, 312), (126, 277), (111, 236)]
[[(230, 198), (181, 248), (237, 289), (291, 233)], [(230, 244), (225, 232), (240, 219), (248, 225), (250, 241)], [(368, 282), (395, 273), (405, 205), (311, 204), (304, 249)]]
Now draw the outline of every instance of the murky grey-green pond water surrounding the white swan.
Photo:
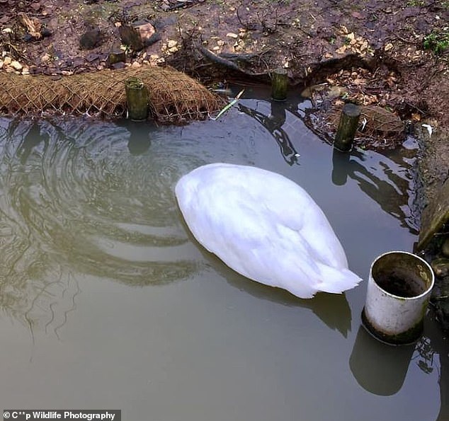
[[(416, 144), (334, 154), (303, 124), (307, 105), (247, 90), (219, 120), (184, 127), (1, 117), (2, 407), (154, 421), (447, 419), (448, 350), (434, 321), (409, 347), (360, 325), (370, 264), (416, 241)], [(205, 252), (174, 185), (217, 161), (302, 185), (360, 286), (297, 299)]]

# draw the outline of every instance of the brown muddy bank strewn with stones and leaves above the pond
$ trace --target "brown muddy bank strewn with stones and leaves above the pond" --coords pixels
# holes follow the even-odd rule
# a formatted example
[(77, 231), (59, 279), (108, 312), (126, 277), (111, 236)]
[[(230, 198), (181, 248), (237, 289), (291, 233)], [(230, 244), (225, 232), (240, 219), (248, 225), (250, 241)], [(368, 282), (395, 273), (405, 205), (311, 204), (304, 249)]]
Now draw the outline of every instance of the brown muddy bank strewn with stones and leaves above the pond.
[[(127, 50), (126, 65), (170, 64), (207, 84), (267, 82), (273, 69), (288, 69), (292, 88), (317, 104), (309, 121), (317, 132), (335, 125), (333, 110), (347, 101), (377, 107), (421, 134), (424, 202), (448, 176), (449, 49), (438, 50), (435, 35), (449, 39), (449, 1), (0, 0), (0, 10), (0, 71), (104, 69), (120, 51), (120, 25), (150, 22), (159, 40)], [(98, 38), (82, 50), (88, 31)], [(403, 139), (374, 127), (359, 144)]]

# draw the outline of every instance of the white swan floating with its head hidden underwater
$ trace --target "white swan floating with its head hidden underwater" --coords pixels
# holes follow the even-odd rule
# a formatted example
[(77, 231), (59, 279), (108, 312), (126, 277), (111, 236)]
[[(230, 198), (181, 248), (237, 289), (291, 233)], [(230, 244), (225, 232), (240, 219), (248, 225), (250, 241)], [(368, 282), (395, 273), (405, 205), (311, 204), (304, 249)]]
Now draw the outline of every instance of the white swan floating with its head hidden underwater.
[(213, 163), (184, 175), (175, 194), (198, 242), (245, 277), (300, 298), (361, 280), (322, 210), (283, 175)]

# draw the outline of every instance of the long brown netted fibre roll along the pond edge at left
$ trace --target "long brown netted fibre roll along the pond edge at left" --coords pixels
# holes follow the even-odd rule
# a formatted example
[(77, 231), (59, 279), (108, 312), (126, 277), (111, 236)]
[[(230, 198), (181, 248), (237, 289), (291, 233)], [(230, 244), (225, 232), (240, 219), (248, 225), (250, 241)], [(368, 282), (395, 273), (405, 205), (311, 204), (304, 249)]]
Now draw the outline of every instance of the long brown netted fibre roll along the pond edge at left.
[(147, 66), (72, 76), (0, 72), (0, 113), (124, 117), (125, 81), (131, 77), (147, 86), (150, 117), (161, 122), (203, 119), (222, 105), (220, 98), (186, 74), (171, 67)]

